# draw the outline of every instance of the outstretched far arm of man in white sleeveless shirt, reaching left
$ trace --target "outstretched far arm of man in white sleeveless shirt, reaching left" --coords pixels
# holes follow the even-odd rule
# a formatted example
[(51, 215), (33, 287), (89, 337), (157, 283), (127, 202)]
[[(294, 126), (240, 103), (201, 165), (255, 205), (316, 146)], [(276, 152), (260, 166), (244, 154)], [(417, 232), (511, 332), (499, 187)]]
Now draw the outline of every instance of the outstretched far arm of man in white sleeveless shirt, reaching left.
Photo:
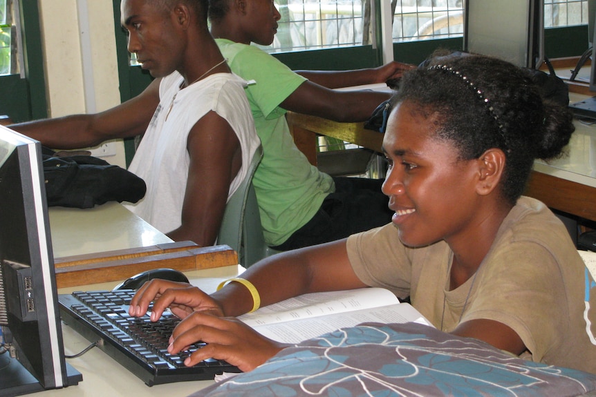
[(159, 104), (159, 83), (160, 79), (152, 81), (140, 95), (101, 113), (12, 124), (10, 128), (58, 149), (84, 148), (140, 135)]

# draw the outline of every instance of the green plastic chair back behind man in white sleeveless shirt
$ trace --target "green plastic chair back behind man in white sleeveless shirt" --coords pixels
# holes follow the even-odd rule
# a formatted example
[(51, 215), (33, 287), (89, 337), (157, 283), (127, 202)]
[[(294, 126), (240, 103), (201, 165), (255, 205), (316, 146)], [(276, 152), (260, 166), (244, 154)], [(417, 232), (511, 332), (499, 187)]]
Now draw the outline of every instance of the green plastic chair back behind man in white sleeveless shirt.
[(248, 174), (225, 206), (217, 237), (217, 244), (226, 244), (238, 253), (239, 262), (245, 268), (278, 252), (265, 244), (257, 195), (252, 186), (254, 171), (262, 157), (263, 148), (259, 146)]

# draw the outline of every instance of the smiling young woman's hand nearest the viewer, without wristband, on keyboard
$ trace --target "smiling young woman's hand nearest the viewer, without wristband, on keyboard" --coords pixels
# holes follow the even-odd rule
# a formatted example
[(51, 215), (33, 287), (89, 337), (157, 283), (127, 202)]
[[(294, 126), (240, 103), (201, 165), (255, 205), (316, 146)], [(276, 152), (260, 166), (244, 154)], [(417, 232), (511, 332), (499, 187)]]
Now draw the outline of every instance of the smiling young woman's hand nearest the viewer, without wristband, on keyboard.
[(263, 364), (288, 346), (265, 338), (236, 318), (196, 311), (176, 326), (168, 352), (177, 354), (198, 340), (207, 345), (194, 351), (185, 360), (185, 365), (190, 367), (202, 360), (215, 358), (225, 360), (245, 372)]

